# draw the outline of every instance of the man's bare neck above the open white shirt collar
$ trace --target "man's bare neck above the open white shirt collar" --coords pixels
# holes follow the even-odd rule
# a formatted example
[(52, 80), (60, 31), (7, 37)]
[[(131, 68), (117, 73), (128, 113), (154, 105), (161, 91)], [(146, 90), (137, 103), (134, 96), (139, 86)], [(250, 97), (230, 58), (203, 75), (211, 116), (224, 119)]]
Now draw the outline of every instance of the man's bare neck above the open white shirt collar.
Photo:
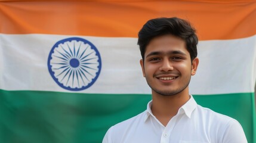
[(178, 109), (189, 101), (189, 98), (188, 89), (171, 96), (159, 95), (152, 91), (152, 113), (162, 125), (166, 126), (169, 120), (178, 113)]

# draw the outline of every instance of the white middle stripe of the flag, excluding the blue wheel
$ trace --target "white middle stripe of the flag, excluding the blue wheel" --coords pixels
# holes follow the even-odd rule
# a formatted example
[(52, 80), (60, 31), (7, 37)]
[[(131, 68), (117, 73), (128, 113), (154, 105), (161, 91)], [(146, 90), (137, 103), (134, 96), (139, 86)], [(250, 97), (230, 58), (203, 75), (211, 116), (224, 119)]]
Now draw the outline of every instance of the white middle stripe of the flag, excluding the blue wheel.
[[(137, 38), (98, 38), (63, 35), (0, 35), (0, 88), (5, 90), (59, 91), (47, 60), (61, 39), (79, 37), (93, 43), (101, 55), (101, 73), (81, 93), (150, 94), (139, 64)], [(225, 41), (201, 41), (199, 69), (190, 83), (191, 94), (254, 92), (256, 36)]]

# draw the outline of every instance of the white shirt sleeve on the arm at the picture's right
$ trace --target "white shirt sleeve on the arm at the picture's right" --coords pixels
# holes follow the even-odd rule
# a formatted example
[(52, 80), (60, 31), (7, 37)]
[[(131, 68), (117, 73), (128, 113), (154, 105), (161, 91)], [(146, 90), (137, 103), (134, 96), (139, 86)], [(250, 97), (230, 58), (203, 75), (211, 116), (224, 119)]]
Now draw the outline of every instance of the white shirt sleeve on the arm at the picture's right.
[(247, 143), (243, 128), (237, 120), (230, 120), (223, 135), (223, 143)]

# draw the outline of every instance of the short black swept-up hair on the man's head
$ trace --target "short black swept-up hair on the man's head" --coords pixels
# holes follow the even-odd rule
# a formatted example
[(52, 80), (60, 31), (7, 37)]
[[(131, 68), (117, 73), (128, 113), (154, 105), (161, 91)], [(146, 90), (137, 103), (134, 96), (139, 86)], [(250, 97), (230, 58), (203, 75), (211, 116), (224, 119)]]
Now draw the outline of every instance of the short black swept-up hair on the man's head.
[(186, 42), (187, 51), (189, 51), (191, 61), (196, 58), (198, 51), (198, 36), (196, 30), (190, 25), (189, 21), (181, 18), (155, 18), (147, 21), (138, 32), (138, 45), (140, 46), (141, 57), (144, 60), (146, 46), (149, 42), (158, 36), (174, 35)]

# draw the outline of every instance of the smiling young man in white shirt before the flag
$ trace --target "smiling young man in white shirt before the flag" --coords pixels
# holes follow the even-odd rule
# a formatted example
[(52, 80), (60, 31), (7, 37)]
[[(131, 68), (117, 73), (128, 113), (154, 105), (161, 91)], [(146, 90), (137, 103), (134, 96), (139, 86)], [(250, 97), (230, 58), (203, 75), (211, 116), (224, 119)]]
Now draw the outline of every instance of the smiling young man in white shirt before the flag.
[(180, 18), (147, 21), (138, 33), (143, 76), (152, 89), (147, 110), (112, 126), (103, 142), (246, 143), (242, 126), (196, 104), (189, 94), (196, 74), (198, 37)]

